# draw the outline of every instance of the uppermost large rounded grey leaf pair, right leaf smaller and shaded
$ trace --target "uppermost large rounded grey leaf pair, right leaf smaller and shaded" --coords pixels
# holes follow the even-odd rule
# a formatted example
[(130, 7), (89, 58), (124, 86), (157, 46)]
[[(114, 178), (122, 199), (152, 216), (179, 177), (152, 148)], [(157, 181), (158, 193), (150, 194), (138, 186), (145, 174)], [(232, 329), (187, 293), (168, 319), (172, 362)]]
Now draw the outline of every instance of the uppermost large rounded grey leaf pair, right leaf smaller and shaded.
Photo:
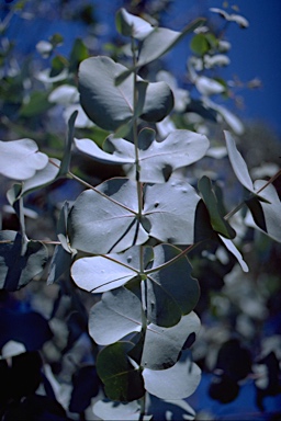
[[(109, 57), (92, 57), (79, 68), (81, 105), (88, 117), (106, 130), (116, 130), (138, 115), (147, 121), (160, 121), (173, 106), (173, 96), (165, 82), (148, 83), (137, 78), (138, 98), (142, 106), (134, 110), (134, 78), (115, 86), (116, 76), (126, 67)], [(144, 93), (145, 98), (144, 98)]]

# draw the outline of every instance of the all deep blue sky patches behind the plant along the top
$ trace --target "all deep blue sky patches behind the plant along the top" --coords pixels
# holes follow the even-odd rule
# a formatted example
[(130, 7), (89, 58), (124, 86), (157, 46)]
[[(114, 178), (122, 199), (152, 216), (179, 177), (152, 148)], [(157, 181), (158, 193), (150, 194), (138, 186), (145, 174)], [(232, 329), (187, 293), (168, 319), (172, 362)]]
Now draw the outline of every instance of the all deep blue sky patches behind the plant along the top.
[[(168, 27), (181, 30), (188, 22), (199, 14), (207, 13), (211, 7), (222, 8), (223, 0), (175, 0), (167, 11)], [(123, 5), (121, 0), (92, 0), (98, 18), (108, 25), (108, 33), (115, 31), (115, 11)], [(238, 11), (232, 9), (235, 5)], [(233, 110), (241, 118), (259, 120), (270, 125), (281, 137), (281, 0), (236, 0), (228, 1), (228, 9), (233, 13), (240, 13), (249, 21), (249, 27), (239, 29), (229, 25), (227, 38), (232, 43), (229, 53), (231, 65), (223, 71), (225, 79), (238, 76), (243, 82), (258, 78), (262, 87), (258, 90), (241, 90), (245, 107)], [(209, 14), (210, 15), (210, 14)], [(223, 24), (223, 20), (222, 20)], [(81, 36), (81, 26), (69, 22), (36, 19), (32, 22), (11, 22), (11, 37), (16, 37), (23, 54), (35, 50), (40, 39), (47, 39), (55, 32), (65, 34), (65, 48), (70, 47), (71, 39)], [(24, 33), (24, 37), (21, 35)], [(177, 75), (182, 77), (186, 71), (188, 57), (187, 43), (182, 41), (169, 60)]]

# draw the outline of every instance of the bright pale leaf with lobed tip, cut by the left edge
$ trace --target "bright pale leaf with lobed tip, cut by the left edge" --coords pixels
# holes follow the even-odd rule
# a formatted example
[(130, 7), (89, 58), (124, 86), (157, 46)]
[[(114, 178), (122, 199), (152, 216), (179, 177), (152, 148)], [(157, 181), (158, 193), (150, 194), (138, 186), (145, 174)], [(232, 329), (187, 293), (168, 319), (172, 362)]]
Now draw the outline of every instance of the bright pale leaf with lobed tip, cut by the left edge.
[(13, 180), (26, 180), (48, 163), (32, 139), (0, 140), (0, 173)]

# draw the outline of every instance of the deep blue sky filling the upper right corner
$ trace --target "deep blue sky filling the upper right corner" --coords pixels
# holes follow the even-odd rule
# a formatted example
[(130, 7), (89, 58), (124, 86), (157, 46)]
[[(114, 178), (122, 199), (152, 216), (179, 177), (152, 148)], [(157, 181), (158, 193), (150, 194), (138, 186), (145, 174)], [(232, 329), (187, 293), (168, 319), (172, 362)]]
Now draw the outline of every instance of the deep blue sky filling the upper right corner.
[[(173, 19), (183, 22), (190, 15), (202, 14), (211, 7), (222, 8), (223, 1), (176, 0)], [(238, 11), (232, 9), (238, 7)], [(237, 111), (246, 120), (263, 121), (281, 137), (281, 0), (236, 0), (228, 1), (227, 11), (239, 13), (249, 21), (249, 27), (229, 25), (226, 36), (232, 43), (231, 65), (223, 71), (225, 78), (238, 76), (243, 82), (258, 78), (262, 82), (259, 90), (241, 90), (245, 107)], [(223, 22), (223, 20), (222, 20)], [(184, 42), (178, 47), (178, 57), (186, 54)], [(182, 60), (181, 60), (182, 61)], [(175, 62), (178, 71), (184, 62)]]

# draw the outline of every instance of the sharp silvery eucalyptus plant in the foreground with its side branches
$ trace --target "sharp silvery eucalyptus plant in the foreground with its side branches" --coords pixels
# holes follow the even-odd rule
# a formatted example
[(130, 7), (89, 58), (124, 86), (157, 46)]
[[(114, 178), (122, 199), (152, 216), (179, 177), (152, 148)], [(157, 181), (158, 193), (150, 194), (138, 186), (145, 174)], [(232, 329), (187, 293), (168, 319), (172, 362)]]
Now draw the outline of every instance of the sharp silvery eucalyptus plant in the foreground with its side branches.
[[(60, 209), (47, 283), (67, 272), (79, 288), (100, 297), (89, 314), (89, 334), (99, 345), (97, 372), (108, 398), (93, 407), (102, 419), (151, 419), (155, 398), (192, 418), (183, 399), (200, 383), (190, 350), (200, 331), (194, 312), (200, 287), (189, 252), (212, 239), (247, 272), (232, 225), (243, 206), (248, 225), (281, 241), (281, 204), (272, 185), (279, 173), (252, 182), (235, 137), (225, 132), (231, 166), (246, 192), (245, 201), (225, 215), (213, 181), (186, 175), (210, 150), (207, 137), (175, 128), (162, 139), (157, 130), (172, 113), (175, 94), (167, 82), (143, 79), (139, 70), (203, 23), (199, 19), (175, 32), (124, 9), (117, 12), (117, 30), (130, 39), (131, 65), (97, 56), (79, 67), (80, 104), (94, 125), (110, 133), (102, 148), (94, 139), (75, 137), (77, 111), (68, 122), (61, 160), (41, 152), (32, 139), (0, 143), (0, 172), (16, 181), (7, 196), (21, 227), (0, 232), (1, 288), (23, 287), (48, 260), (46, 243), (26, 236), (24, 197), (61, 178), (85, 186)], [(71, 172), (74, 148), (93, 166), (121, 166), (124, 177), (90, 185)]]

